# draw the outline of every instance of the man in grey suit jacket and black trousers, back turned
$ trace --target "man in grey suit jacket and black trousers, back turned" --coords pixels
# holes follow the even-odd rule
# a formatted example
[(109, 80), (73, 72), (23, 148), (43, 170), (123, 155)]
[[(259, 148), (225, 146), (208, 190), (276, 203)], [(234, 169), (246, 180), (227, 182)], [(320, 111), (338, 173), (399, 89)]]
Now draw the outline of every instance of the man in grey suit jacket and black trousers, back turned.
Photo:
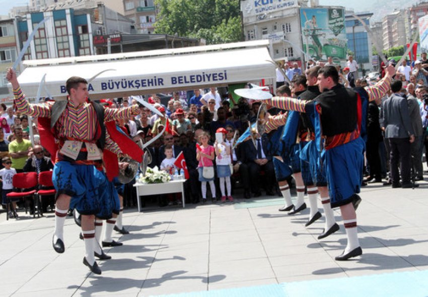
[[(388, 139), (391, 148), (392, 188), (411, 188), (410, 144), (414, 141), (414, 133), (407, 109), (407, 101), (397, 94), (401, 91), (401, 87), (401, 81), (396, 80), (391, 83), (393, 94), (382, 103), (381, 125), (385, 130), (385, 138)], [(399, 182), (398, 162), (400, 162), (402, 184)]]

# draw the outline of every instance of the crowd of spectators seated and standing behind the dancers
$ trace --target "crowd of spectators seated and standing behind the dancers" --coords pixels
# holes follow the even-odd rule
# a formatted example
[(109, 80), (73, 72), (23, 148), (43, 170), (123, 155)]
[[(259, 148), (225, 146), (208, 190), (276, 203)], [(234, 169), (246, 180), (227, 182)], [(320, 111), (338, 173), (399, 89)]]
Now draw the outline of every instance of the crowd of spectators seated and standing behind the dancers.
[[(328, 64), (335, 66), (330, 60)], [(390, 63), (394, 62), (391, 61)], [(287, 64), (283, 67), (288, 68), (286, 69), (286, 74), (287, 76), (290, 75), (289, 79), (292, 81), (293, 78), (302, 73), (297, 65), (293, 65), (292, 69)], [(310, 67), (308, 66), (308, 68)], [(351, 87), (346, 70), (343, 73), (339, 66), (337, 68), (340, 73), (341, 83)], [(305, 72), (303, 72), (304, 74)], [(428, 94), (427, 77), (428, 61), (426, 60), (426, 54), (422, 54), (422, 60), (414, 62), (413, 65), (409, 65), (404, 61), (394, 77), (395, 81), (401, 82), (401, 87), (399, 90), (389, 94), (389, 96), (394, 95), (405, 98), (408, 105), (408, 115), (411, 119), (415, 141), (411, 144), (409, 158), (404, 158), (402, 161), (411, 162), (408, 165), (412, 168), (411, 172), (414, 180), (423, 180), (423, 147), (425, 147), (425, 155), (428, 153), (428, 99), (425, 97), (428, 96), (426, 95)], [(287, 84), (286, 80), (277, 82), (277, 85), (278, 83), (279, 85)], [(352, 84), (355, 87), (365, 87), (367, 86), (367, 81), (360, 78), (352, 81)], [(389, 164), (392, 160), (390, 158), (390, 141), (385, 138), (385, 126), (382, 126), (382, 106), (387, 98), (388, 96), (377, 102), (371, 102), (368, 106), (366, 162), (368, 177), (366, 182), (370, 183), (382, 182), (382, 179), (388, 178), (388, 172), (390, 171)], [(137, 100), (132, 96), (103, 101), (111, 108), (137, 104)], [(147, 107), (140, 105), (140, 113), (138, 115), (118, 124), (126, 127), (129, 135), (135, 141), (148, 142), (164, 130), (165, 125), (167, 125), (166, 121), (168, 121), (169, 133), (163, 134), (148, 147), (152, 155), (152, 162), (149, 166), (161, 167), (166, 158), (166, 148), (168, 155), (172, 153), (172, 156), (170, 156), (172, 158), (176, 158), (183, 152), (190, 174), (190, 179), (185, 183), (185, 199), (187, 203), (198, 203), (202, 198), (205, 198), (203, 197), (204, 190), (201, 188), (200, 172), (198, 172), (198, 167), (200, 167), (200, 156), (198, 155), (198, 148), (201, 145), (200, 137), (206, 135), (208, 137), (208, 145), (218, 146), (219, 143), (216, 142), (216, 132), (218, 131), (224, 131), (225, 138), (222, 144), (228, 147), (229, 151), (232, 192), (239, 184), (243, 189), (243, 197), (246, 199), (260, 196), (262, 190), (267, 195), (279, 194), (277, 184), (274, 182), (273, 156), (267, 148), (268, 135), (255, 135), (254, 141), (247, 140), (235, 146), (237, 136), (244, 133), (248, 128), (248, 124), (256, 120), (260, 105), (258, 102), (249, 102), (246, 98), (239, 98), (235, 101), (231, 94), (222, 96), (216, 88), (207, 89), (205, 92), (196, 89), (193, 90), (193, 95), (188, 97), (182, 92), (173, 92), (166, 105), (162, 104), (161, 98), (154, 94), (148, 98), (148, 102), (165, 117), (160, 117), (158, 114), (152, 113)], [(379, 111), (381, 111), (381, 115)], [(38, 136), (37, 125), (33, 123), (30, 126), (26, 115), (15, 113), (13, 107), (7, 107), (5, 104), (0, 104), (0, 114), (2, 128), (0, 129), (0, 157), (10, 157), (11, 167), (16, 172), (50, 170), (52, 163), (49, 155), (39, 146), (40, 137)], [(34, 134), (34, 147), (32, 147), (29, 140), (30, 129)], [(216, 167), (216, 154), (217, 158), (222, 155), (217, 150), (215, 152), (212, 160), (214, 168)], [(222, 156), (224, 157), (224, 155)], [(167, 163), (169, 164), (170, 162)], [(43, 165), (41, 166), (40, 164)], [(163, 167), (166, 168), (168, 166)], [(0, 167), (3, 168), (3, 165), (0, 165)], [(224, 185), (220, 185), (219, 180), (218, 174), (215, 172), (213, 184), (209, 183), (210, 188), (216, 188), (209, 191), (212, 193), (210, 198), (213, 201), (224, 201)], [(391, 185), (392, 182), (387, 179), (384, 184)], [(227, 193), (227, 196), (231, 196), (231, 194)], [(171, 201), (161, 199), (159, 203), (167, 205)], [(175, 203), (175, 201), (172, 201), (172, 203)], [(52, 210), (53, 204), (53, 199), (46, 199), (42, 205), (43, 211), (47, 211), (48, 207)], [(124, 205), (128, 207), (136, 205), (132, 184), (126, 187)]]

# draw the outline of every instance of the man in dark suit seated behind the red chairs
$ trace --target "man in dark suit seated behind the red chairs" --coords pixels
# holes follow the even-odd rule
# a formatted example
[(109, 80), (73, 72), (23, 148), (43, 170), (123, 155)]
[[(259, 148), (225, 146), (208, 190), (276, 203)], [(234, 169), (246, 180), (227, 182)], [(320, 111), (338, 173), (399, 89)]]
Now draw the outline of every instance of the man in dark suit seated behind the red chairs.
[[(33, 156), (27, 159), (24, 165), (24, 172), (37, 172), (40, 173), (42, 171), (49, 171), (53, 169), (52, 161), (49, 157), (45, 157), (43, 155), (43, 148), (40, 145), (35, 145), (32, 150)], [(47, 206), (50, 205), (51, 209), (54, 209), (54, 196), (47, 196), (42, 201), (42, 209), (43, 212), (47, 212)], [(30, 201), (30, 213), (33, 212), (33, 204), (34, 202)]]

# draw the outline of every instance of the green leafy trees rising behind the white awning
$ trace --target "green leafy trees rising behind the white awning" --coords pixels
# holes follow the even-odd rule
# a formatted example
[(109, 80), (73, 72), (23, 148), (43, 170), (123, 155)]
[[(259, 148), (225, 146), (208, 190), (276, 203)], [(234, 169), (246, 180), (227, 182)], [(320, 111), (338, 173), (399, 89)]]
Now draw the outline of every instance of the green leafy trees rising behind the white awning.
[(237, 0), (156, 0), (155, 33), (204, 38), (207, 44), (243, 40)]

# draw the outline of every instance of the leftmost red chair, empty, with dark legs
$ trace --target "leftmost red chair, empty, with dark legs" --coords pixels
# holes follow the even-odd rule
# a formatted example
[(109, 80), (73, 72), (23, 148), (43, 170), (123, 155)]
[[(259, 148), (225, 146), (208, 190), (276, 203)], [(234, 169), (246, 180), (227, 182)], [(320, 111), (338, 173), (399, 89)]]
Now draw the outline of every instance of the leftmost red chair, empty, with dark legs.
[[(8, 211), (7, 211), (7, 219), (9, 220), (9, 210), (10, 210), (10, 204), (11, 202), (8, 201), (9, 199), (14, 198), (25, 198), (25, 197), (33, 197), (35, 198), (36, 190), (26, 191), (26, 189), (35, 188), (37, 186), (37, 173), (36, 172), (25, 172), (25, 173), (17, 173), (12, 177), (12, 185), (15, 189), (17, 189), (17, 192), (11, 192), (6, 195), (6, 202), (8, 205)], [(39, 207), (40, 208), (40, 207)], [(36, 204), (34, 203), (34, 213), (33, 217), (36, 217)]]

